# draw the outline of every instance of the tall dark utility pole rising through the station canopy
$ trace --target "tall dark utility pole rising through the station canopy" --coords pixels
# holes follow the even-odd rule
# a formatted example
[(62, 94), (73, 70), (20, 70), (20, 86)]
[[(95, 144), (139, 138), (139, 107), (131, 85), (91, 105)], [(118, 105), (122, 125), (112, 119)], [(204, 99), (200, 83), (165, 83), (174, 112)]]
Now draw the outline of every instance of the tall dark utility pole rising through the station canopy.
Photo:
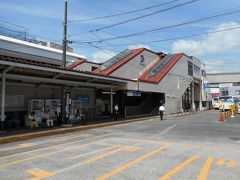
[[(67, 0), (64, 4), (64, 23), (63, 23), (63, 56), (62, 56), (62, 67), (66, 68), (66, 52), (67, 52)], [(62, 85), (62, 106), (61, 106), (61, 120), (62, 123), (67, 124), (66, 119), (66, 87)]]

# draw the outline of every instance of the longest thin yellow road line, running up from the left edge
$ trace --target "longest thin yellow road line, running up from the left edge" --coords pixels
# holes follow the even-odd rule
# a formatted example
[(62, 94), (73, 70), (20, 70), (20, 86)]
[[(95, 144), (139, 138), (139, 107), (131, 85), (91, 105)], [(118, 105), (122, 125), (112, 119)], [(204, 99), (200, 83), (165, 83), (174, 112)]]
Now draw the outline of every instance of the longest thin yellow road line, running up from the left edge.
[(88, 146), (88, 145), (91, 145), (91, 144), (96, 144), (96, 143), (99, 143), (101, 141), (106, 141), (106, 139), (94, 141), (94, 142), (91, 142), (91, 143), (81, 144), (81, 145), (75, 146), (75, 147), (60, 149), (60, 150), (57, 150), (57, 151), (51, 151), (51, 152), (48, 152), (48, 153), (40, 154), (38, 156), (32, 156), (32, 157), (28, 157), (28, 158), (24, 158), (24, 159), (20, 159), (20, 160), (16, 160), (16, 161), (3, 163), (3, 164), (0, 164), (0, 167), (6, 167), (6, 166), (10, 166), (10, 165), (21, 163), (21, 162), (37, 159), (37, 158), (40, 158), (40, 157), (43, 157), (43, 156), (48, 156), (48, 155), (56, 154), (56, 153), (59, 153), (59, 152), (64, 152), (64, 151), (68, 151), (68, 150), (72, 150), (72, 149), (77, 149), (79, 147)]

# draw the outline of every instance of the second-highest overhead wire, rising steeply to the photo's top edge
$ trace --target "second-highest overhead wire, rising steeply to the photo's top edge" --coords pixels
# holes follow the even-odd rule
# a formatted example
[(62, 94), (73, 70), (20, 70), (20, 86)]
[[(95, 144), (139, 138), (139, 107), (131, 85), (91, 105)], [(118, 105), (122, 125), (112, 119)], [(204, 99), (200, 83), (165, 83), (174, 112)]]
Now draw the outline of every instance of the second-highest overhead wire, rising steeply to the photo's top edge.
[(188, 2), (185, 2), (185, 3), (179, 4), (179, 5), (176, 5), (176, 6), (172, 6), (172, 7), (166, 8), (166, 9), (162, 9), (162, 10), (158, 10), (158, 11), (155, 11), (155, 12), (143, 15), (143, 16), (138, 16), (136, 18), (128, 19), (126, 21), (121, 21), (121, 22), (118, 22), (118, 23), (115, 23), (115, 24), (112, 24), (112, 25), (109, 25), (109, 26), (104, 26), (104, 27), (101, 27), (101, 28), (98, 28), (98, 29), (95, 29), (95, 30), (92, 30), (92, 31), (101, 31), (103, 29), (112, 28), (112, 27), (122, 25), (122, 24), (125, 24), (125, 23), (128, 23), (128, 22), (131, 22), (131, 21), (135, 21), (135, 20), (142, 19), (142, 18), (145, 18), (145, 17), (148, 17), (148, 16), (152, 16), (152, 15), (158, 14), (160, 12), (168, 11), (168, 10), (175, 9), (175, 8), (187, 5), (187, 4), (191, 4), (191, 3), (194, 3), (196, 1), (199, 1), (199, 0), (188, 1)]

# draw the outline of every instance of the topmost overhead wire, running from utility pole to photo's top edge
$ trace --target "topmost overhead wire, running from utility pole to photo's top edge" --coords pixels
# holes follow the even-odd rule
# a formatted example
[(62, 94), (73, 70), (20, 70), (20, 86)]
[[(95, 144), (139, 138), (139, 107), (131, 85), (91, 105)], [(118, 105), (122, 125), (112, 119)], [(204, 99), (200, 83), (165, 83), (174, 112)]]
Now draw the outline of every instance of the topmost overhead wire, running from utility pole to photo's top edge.
[(99, 17), (88, 18), (88, 19), (70, 20), (68, 22), (70, 22), (70, 23), (84, 22), (84, 21), (92, 21), (92, 20), (106, 19), (106, 18), (111, 18), (111, 17), (116, 17), (116, 16), (122, 16), (122, 15), (132, 14), (132, 13), (139, 12), (139, 11), (153, 9), (153, 8), (156, 8), (156, 7), (159, 7), (159, 6), (163, 6), (163, 5), (167, 5), (167, 4), (171, 4), (171, 3), (174, 3), (174, 2), (177, 2), (177, 1), (180, 1), (180, 0), (172, 0), (172, 1), (169, 1), (169, 2), (157, 4), (157, 5), (154, 5), (154, 6), (149, 6), (149, 7), (146, 7), (146, 8), (141, 8), (141, 9), (132, 10), (132, 11), (126, 11), (126, 12), (116, 13), (116, 14), (111, 14), (111, 15), (106, 15), (106, 16), (99, 16)]

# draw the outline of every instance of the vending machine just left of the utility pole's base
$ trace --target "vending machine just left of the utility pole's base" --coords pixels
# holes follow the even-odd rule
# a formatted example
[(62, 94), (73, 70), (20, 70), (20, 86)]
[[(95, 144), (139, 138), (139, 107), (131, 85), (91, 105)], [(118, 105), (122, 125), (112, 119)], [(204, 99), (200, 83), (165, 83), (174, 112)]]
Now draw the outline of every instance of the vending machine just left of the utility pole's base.
[(61, 105), (60, 99), (46, 99), (45, 100), (45, 110), (49, 110), (50, 119), (57, 119), (57, 107)]

